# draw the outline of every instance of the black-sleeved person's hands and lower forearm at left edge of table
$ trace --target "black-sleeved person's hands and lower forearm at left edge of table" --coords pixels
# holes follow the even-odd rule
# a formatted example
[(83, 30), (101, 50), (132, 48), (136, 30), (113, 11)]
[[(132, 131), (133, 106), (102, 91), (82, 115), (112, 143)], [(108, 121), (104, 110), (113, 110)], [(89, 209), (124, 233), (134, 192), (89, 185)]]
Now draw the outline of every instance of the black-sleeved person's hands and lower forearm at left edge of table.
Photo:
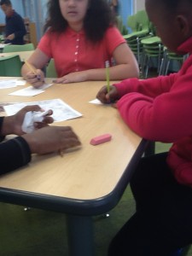
[(0, 117), (1, 140), (6, 135), (15, 134), (18, 137), (0, 143), (0, 174), (10, 172), (25, 166), (31, 160), (31, 154), (47, 154), (57, 150), (65, 150), (79, 146), (79, 138), (68, 126), (49, 126), (53, 119), (44, 117), (43, 122), (36, 123), (36, 130), (25, 134), (21, 130), (24, 117), (28, 111), (41, 111), (37, 105), (22, 108), (18, 113), (8, 117)]

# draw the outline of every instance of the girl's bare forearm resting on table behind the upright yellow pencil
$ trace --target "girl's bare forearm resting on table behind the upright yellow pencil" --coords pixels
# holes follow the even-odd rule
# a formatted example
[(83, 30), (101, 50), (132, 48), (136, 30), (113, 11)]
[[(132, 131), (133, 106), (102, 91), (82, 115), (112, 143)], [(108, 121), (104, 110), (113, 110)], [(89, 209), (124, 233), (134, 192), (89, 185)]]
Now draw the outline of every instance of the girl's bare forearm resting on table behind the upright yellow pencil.
[[(87, 80), (105, 80), (106, 69), (96, 68), (84, 71)], [(123, 80), (129, 78), (138, 78), (139, 70), (137, 67), (132, 67), (130, 64), (120, 64), (117, 66), (109, 67), (110, 80)]]

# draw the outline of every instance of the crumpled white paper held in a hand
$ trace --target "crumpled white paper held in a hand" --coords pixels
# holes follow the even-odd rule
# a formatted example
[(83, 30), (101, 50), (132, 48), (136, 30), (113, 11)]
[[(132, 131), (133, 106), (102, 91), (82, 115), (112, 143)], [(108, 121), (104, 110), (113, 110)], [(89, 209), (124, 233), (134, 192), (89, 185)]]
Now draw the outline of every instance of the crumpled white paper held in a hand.
[(22, 131), (26, 133), (32, 133), (32, 131), (35, 130), (34, 123), (42, 122), (44, 119), (44, 116), (47, 113), (49, 113), (49, 110), (44, 112), (35, 112), (35, 111), (26, 112), (25, 118), (23, 120), (23, 124), (21, 125)]

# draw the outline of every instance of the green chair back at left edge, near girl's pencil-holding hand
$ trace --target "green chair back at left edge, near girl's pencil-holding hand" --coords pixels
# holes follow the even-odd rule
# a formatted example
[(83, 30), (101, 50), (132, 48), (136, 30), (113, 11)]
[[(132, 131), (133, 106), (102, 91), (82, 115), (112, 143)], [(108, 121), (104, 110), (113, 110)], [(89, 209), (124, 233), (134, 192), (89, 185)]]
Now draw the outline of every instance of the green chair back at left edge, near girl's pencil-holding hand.
[(0, 76), (2, 77), (20, 77), (21, 67), (19, 55), (0, 57)]

